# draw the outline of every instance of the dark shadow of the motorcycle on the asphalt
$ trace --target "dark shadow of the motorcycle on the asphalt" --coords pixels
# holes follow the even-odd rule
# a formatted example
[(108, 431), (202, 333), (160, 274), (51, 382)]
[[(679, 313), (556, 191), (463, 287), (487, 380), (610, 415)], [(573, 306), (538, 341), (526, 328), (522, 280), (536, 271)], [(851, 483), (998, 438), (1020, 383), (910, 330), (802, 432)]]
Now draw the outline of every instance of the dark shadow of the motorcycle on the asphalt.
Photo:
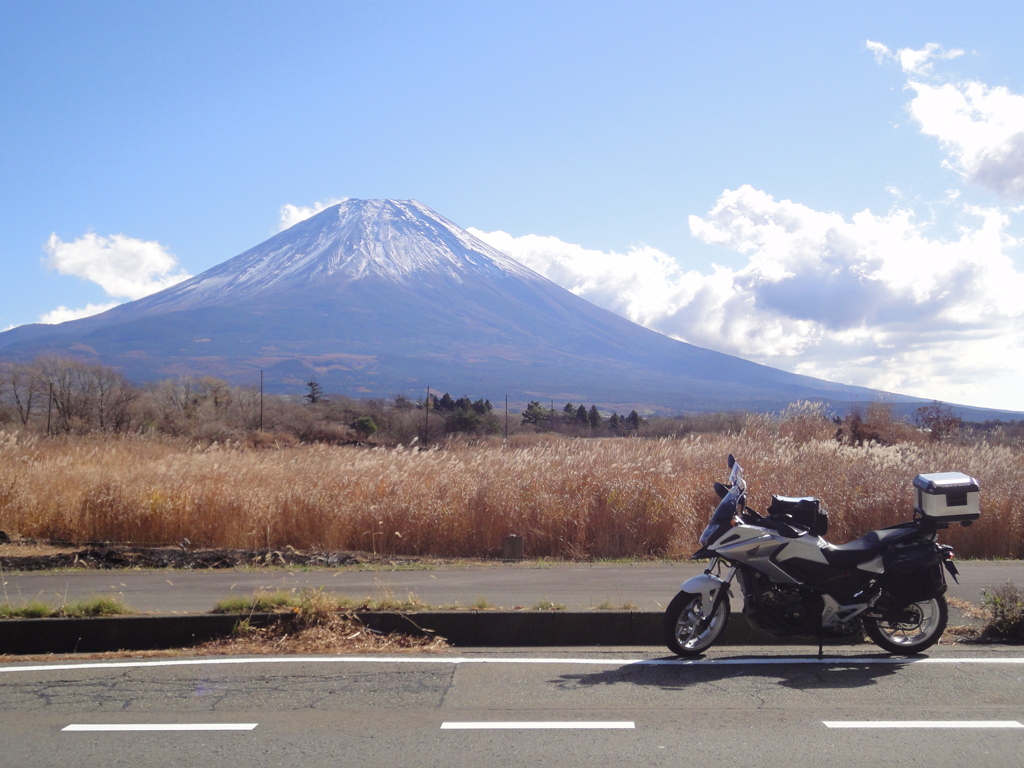
[(638, 685), (663, 689), (692, 689), (715, 686), (726, 680), (757, 679), (794, 690), (833, 690), (878, 685), (896, 675), (913, 657), (893, 657), (887, 653), (855, 657), (787, 655), (730, 655), (683, 659), (675, 656), (631, 662), (617, 669), (591, 674), (562, 675), (550, 682), (562, 688), (594, 688), (610, 685)]

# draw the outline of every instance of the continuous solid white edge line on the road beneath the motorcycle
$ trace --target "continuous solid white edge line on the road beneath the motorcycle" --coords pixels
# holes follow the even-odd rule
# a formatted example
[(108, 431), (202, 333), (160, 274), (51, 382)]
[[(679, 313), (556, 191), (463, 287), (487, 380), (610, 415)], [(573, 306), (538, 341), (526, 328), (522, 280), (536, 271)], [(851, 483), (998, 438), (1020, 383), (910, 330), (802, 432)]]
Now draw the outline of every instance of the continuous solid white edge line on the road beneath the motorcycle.
[(904, 657), (904, 656), (767, 656), (762, 658), (580, 658), (580, 657), (445, 657), (445, 656), (264, 656), (147, 659), (137, 662), (94, 662), (80, 664), (9, 665), (0, 673), (61, 672), (67, 670), (117, 670), (139, 667), (209, 667), (222, 665), (263, 664), (513, 664), (513, 665), (582, 665), (589, 667), (774, 667), (780, 665), (872, 665), (916, 666), (920, 664), (1024, 665), (1018, 657)]

